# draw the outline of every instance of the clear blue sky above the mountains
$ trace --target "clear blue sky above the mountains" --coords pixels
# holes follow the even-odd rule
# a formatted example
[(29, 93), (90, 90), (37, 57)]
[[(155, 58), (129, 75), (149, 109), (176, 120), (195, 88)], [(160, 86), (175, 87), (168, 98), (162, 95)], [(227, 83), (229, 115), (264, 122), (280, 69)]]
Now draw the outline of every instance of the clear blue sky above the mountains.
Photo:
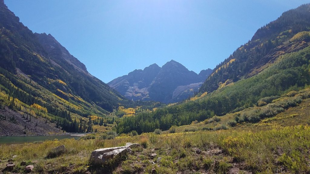
[(5, 0), (33, 33), (51, 34), (109, 81), (171, 59), (215, 68), (258, 28), (304, 0)]

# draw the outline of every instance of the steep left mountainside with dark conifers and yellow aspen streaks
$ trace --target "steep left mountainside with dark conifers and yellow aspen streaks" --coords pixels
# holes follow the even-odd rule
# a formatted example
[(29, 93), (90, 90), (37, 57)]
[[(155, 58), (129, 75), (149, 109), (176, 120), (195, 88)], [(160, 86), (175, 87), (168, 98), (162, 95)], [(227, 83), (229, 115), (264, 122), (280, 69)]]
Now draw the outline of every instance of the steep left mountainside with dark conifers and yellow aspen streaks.
[(11, 123), (19, 124), (12, 120), (21, 116), (24, 122), (29, 121), (26, 116), (35, 118), (32, 121), (42, 117), (46, 121), (38, 126), (56, 125), (70, 132), (77, 131), (80, 123), (84, 130), (98, 123), (83, 117), (109, 115), (120, 102), (126, 102), (89, 74), (54, 37), (33, 34), (3, 1), (0, 15), (0, 109), (16, 113), (9, 115)]

